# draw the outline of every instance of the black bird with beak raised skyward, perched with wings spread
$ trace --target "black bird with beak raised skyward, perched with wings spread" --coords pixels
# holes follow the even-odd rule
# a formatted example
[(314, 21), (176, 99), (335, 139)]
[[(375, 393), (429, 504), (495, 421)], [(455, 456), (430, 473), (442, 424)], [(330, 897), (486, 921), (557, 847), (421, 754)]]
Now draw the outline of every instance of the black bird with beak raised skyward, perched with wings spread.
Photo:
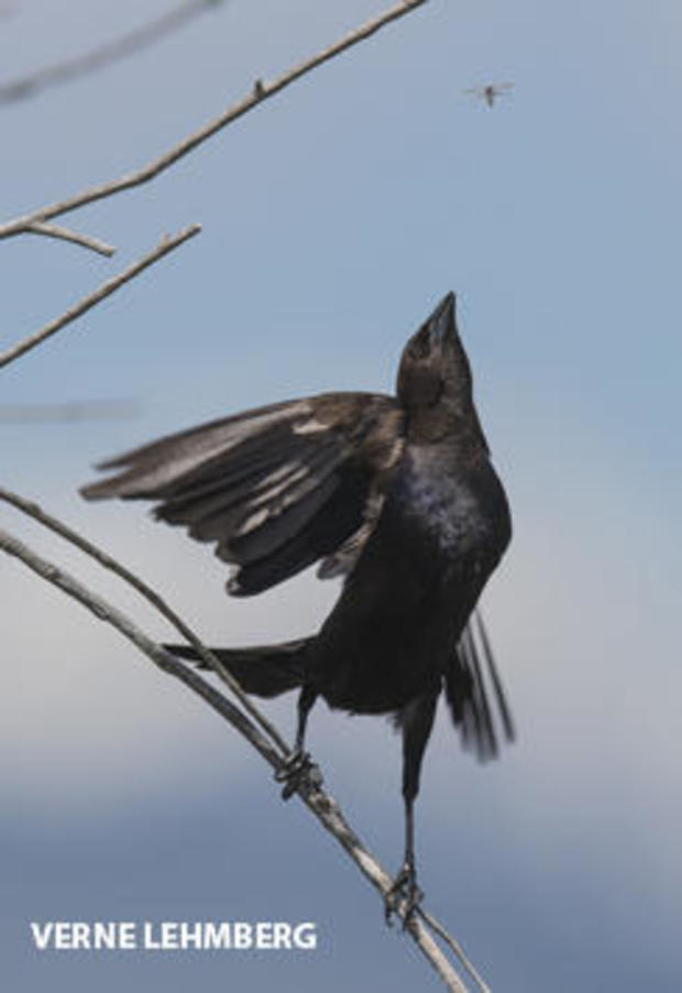
[[(324, 393), (213, 421), (99, 468), (118, 474), (88, 499), (161, 501), (233, 565), (232, 596), (251, 596), (321, 559), (343, 576), (316, 635), (278, 645), (213, 650), (246, 692), (295, 687), (290, 770), (306, 768), (306, 719), (318, 696), (353, 713), (392, 713), (403, 732), (405, 860), (398, 897), (416, 884), (413, 807), (436, 703), (444, 691), (464, 745), (497, 752), (492, 694), (506, 736), (512, 720), (485, 629), (469, 623), (512, 533), (504, 489), (472, 396), (471, 370), (448, 294), (407, 342), (396, 397)], [(188, 646), (169, 646), (196, 658)], [(482, 662), (487, 665), (487, 683)], [(285, 795), (296, 788), (296, 779)]]

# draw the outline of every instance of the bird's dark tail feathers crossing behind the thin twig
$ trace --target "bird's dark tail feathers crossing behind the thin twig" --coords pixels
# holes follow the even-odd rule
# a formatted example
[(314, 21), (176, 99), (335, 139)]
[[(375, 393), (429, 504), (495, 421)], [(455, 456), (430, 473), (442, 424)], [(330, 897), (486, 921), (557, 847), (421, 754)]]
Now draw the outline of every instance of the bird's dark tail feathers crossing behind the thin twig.
[[(295, 689), (304, 681), (304, 659), (310, 637), (301, 637), (279, 645), (256, 645), (250, 648), (211, 648), (224, 667), (235, 677), (242, 689), (257, 697), (277, 697)], [(206, 663), (191, 645), (164, 645), (173, 655)]]

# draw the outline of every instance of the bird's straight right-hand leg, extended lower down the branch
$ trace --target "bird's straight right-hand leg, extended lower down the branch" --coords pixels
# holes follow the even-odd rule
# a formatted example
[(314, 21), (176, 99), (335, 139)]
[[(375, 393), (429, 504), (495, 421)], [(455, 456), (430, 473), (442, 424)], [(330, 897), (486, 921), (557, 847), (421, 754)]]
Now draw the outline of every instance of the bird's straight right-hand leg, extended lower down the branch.
[(400, 713), (403, 727), (403, 797), (405, 800), (405, 856), (403, 866), (386, 894), (386, 924), (392, 915), (403, 912), (406, 925), (424, 894), (417, 885), (415, 864), (415, 799), (419, 792), (421, 760), (433, 727), (440, 684), (421, 694)]

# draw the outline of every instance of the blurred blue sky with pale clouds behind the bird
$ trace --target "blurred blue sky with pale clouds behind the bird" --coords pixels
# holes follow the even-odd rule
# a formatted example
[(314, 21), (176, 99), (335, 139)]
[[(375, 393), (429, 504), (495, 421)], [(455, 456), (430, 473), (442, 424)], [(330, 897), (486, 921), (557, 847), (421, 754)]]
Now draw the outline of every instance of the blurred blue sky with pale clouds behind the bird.
[[(2, 220), (142, 165), (382, 4), (224, 0), (97, 72), (12, 92), (170, 9), (3, 6)], [(118, 245), (112, 260), (30, 237), (0, 249), (7, 347), (164, 231), (204, 225), (2, 371), (0, 451), (4, 485), (103, 545), (218, 644), (308, 633), (338, 588), (308, 574), (230, 601), (210, 549), (146, 505), (86, 505), (91, 466), (265, 402), (392, 391), (405, 339), (458, 292), (514, 512), (483, 609), (518, 742), (476, 765), (439, 714), (419, 871), (428, 907), (505, 993), (682, 989), (681, 45), (671, 0), (433, 0), (152, 184), (62, 218)], [(463, 92), (502, 81), (514, 88), (492, 108)], [(65, 403), (111, 416), (57, 416)], [(51, 414), (26, 416), (35, 405)], [(0, 517), (168, 637), (120, 582), (8, 506)], [(4, 556), (0, 604), (12, 990), (439, 989), (338, 845), (179, 684)], [(294, 705), (267, 708), (287, 735)], [(399, 739), (383, 719), (320, 703), (309, 742), (396, 870)], [(314, 920), (319, 945), (38, 953), (28, 921), (53, 919)]]

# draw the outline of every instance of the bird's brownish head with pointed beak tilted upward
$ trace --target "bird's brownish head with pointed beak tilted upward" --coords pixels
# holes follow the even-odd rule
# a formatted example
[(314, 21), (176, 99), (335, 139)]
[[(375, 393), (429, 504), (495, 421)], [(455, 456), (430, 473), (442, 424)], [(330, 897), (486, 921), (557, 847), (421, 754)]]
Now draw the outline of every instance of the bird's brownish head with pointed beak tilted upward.
[(469, 359), (454, 319), (449, 293), (413, 335), (403, 351), (397, 395), (409, 421), (436, 439), (471, 428), (485, 445), (474, 407)]

